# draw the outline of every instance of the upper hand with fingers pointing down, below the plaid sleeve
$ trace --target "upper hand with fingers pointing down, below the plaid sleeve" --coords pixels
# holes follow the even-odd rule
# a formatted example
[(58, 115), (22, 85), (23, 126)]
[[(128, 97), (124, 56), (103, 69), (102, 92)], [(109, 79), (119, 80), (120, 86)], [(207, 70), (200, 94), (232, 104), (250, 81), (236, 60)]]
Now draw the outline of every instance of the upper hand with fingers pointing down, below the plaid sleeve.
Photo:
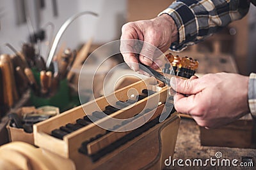
[[(177, 27), (172, 17), (163, 14), (151, 20), (141, 20), (129, 22), (122, 27), (120, 51), (125, 62), (134, 71), (139, 71), (138, 62), (151, 66), (153, 69), (161, 66), (161, 60), (157, 60), (156, 49), (166, 52), (171, 43), (177, 41)], [(141, 49), (134, 49), (134, 41), (124, 41), (125, 39), (138, 39), (145, 41)], [(157, 48), (156, 48), (156, 47)], [(138, 56), (138, 52), (140, 55)], [(158, 66), (157, 66), (158, 65)]]

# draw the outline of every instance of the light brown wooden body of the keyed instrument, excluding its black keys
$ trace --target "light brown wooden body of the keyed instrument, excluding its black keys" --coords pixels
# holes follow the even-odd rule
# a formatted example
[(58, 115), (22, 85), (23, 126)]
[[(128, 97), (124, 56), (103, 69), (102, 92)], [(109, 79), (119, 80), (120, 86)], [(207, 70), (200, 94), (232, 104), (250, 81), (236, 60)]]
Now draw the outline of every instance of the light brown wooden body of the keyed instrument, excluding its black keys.
[[(141, 90), (148, 89), (148, 87), (149, 90), (152, 90), (151, 88), (155, 86), (161, 87), (161, 90), (138, 101), (134, 106), (126, 110), (112, 113), (109, 117), (131, 118), (140, 113), (145, 106), (151, 107), (150, 109), (156, 109), (154, 114), (160, 115), (168, 98), (168, 87), (165, 87), (163, 83), (157, 82), (154, 78), (148, 78), (116, 90), (114, 94), (100, 97), (95, 101), (83, 104), (83, 106), (78, 106), (57, 117), (34, 125), (35, 145), (61, 157), (71, 159), (76, 164), (77, 169), (120, 169), (120, 167), (122, 169), (161, 169), (163, 168), (164, 160), (168, 159), (169, 156), (173, 156), (174, 153), (180, 120), (177, 113), (173, 113), (164, 122), (154, 125), (154, 127), (116, 148), (113, 152), (100, 157), (95, 162), (92, 162), (88, 155), (79, 153), (78, 150), (84, 141), (93, 138), (97, 134), (104, 134), (106, 132), (105, 129), (95, 124), (90, 124), (67, 134), (63, 137), (63, 140), (51, 136), (52, 130), (58, 129), (67, 123), (74, 123), (78, 118), (83, 118), (84, 115), (91, 115), (93, 111), (104, 110), (109, 103), (115, 103), (115, 100), (126, 101), (131, 96), (131, 93), (134, 93), (131, 89), (136, 89), (140, 94)], [(104, 117), (97, 120), (97, 122), (109, 120), (109, 117)], [(115, 122), (113, 122), (113, 125), (115, 125)], [(115, 132), (116, 136), (122, 133), (124, 132)]]

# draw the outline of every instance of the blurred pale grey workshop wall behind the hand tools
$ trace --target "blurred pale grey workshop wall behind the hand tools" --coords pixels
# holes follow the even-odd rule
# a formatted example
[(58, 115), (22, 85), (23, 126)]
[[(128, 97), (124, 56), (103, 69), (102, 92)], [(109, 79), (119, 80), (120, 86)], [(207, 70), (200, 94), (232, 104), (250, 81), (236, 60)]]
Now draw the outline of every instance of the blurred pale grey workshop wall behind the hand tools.
[[(11, 43), (17, 50), (24, 41), (28, 41), (29, 30), (26, 23), (17, 24), (17, 18), (20, 18), (20, 9), (17, 4), (22, 0), (0, 0), (0, 52), (10, 53), (10, 49), (3, 46), (4, 43)], [(83, 16), (73, 22), (68, 27), (61, 38), (65, 46), (75, 48), (77, 45), (84, 43), (93, 36), (93, 43), (101, 44), (120, 38), (121, 27), (125, 23), (126, 1), (114, 0), (56, 0), (58, 16), (54, 17), (52, 1), (44, 1), (45, 7), (36, 10), (35, 0), (26, 0), (28, 12), (31, 16), (31, 22), (34, 29), (44, 27), (47, 22), (54, 24), (54, 35), (60, 26), (68, 17), (79, 13), (80, 11), (90, 10), (99, 13), (99, 17)], [(38, 1), (39, 2), (39, 1)], [(21, 9), (22, 10), (22, 9)], [(36, 13), (38, 11), (38, 13)], [(37, 17), (37, 15), (39, 17)], [(37, 19), (36, 19), (37, 18)], [(36, 24), (37, 23), (37, 24)], [(36, 26), (37, 25), (37, 26)], [(45, 29), (47, 32), (46, 41), (42, 42), (41, 53), (45, 56), (48, 46), (46, 45), (49, 38), (50, 28)]]

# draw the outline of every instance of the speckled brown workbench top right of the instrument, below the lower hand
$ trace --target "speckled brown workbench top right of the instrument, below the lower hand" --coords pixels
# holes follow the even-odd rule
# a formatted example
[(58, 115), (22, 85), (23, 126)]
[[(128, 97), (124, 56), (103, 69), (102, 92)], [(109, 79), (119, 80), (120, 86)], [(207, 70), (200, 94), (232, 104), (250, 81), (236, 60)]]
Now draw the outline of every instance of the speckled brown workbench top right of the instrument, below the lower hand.
[[(237, 139), (239, 140), (239, 139)], [(216, 159), (216, 152), (221, 152), (221, 159), (237, 159), (241, 162), (241, 157), (253, 157), (254, 167), (243, 167), (237, 169), (256, 169), (256, 149), (242, 149), (242, 148), (227, 148), (227, 147), (214, 147), (214, 146), (201, 146), (200, 145), (200, 130), (196, 122), (191, 119), (181, 118), (180, 127), (178, 132), (177, 143), (175, 147), (174, 158), (172, 159)], [(167, 159), (167, 158), (166, 158)], [(220, 160), (221, 160), (220, 159)], [(183, 162), (184, 164), (184, 162)], [(234, 166), (230, 167), (212, 167), (207, 164), (206, 167), (179, 167), (177, 162), (175, 167), (166, 167), (166, 169), (236, 169)]]

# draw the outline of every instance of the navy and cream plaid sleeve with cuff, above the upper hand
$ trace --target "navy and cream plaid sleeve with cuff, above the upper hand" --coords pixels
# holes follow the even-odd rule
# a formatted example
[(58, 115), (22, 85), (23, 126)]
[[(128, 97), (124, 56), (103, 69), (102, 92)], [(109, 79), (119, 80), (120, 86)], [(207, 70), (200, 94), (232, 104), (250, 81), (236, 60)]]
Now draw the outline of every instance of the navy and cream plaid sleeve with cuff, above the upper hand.
[(159, 15), (167, 13), (175, 21), (179, 35), (170, 49), (180, 51), (244, 17), (249, 7), (246, 0), (177, 0)]

